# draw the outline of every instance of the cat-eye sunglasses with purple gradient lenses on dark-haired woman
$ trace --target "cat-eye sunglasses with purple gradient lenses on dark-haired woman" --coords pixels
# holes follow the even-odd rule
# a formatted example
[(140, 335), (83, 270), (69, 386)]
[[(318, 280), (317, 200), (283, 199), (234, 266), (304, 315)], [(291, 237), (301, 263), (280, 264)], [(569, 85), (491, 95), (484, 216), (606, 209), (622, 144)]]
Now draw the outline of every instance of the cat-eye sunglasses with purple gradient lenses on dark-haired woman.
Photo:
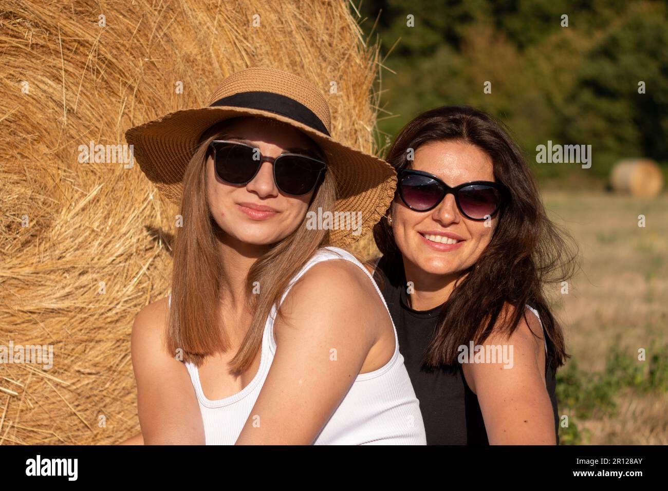
[(482, 221), (510, 199), (510, 190), (500, 182), (470, 181), (451, 188), (422, 170), (399, 169), (397, 174), (397, 192), (404, 204), (415, 211), (433, 210), (446, 194), (452, 193), (457, 208), (466, 218)]

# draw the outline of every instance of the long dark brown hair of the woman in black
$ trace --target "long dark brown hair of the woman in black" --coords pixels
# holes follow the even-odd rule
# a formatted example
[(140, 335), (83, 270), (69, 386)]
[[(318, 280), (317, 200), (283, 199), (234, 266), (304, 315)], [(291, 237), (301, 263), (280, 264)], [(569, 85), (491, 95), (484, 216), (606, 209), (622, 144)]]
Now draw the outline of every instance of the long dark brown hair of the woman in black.
[[(466, 142), (490, 156), (494, 177), (510, 188), (510, 200), (499, 212), (490, 243), (478, 261), (462, 272), (447, 301), (444, 299), (424, 358), (431, 367), (456, 365), (458, 347), (469, 341), (484, 343), (495, 326), (499, 333), (510, 336), (526, 315), (526, 304), (540, 315), (552, 367), (563, 365), (568, 357), (544, 287), (572, 277), (577, 247), (566, 230), (548, 219), (530, 168), (509, 134), (501, 122), (485, 112), (444, 106), (409, 122), (387, 154), (387, 161), (398, 170), (410, 166), (406, 158), (409, 148), (415, 151), (434, 141)], [(373, 237), (387, 264), (403, 268), (401, 251), (386, 219), (376, 224)]]

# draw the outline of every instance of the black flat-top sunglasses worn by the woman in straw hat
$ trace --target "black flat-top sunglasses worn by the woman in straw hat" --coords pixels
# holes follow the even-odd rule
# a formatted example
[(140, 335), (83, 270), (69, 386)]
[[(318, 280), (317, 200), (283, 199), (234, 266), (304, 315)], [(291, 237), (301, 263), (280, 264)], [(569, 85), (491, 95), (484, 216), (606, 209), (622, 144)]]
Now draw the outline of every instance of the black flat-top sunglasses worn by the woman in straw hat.
[(248, 184), (267, 161), (273, 164), (276, 187), (292, 196), (313, 191), (327, 168), (322, 160), (301, 154), (263, 156), (257, 148), (242, 142), (214, 140), (209, 148), (220, 180), (237, 186)]

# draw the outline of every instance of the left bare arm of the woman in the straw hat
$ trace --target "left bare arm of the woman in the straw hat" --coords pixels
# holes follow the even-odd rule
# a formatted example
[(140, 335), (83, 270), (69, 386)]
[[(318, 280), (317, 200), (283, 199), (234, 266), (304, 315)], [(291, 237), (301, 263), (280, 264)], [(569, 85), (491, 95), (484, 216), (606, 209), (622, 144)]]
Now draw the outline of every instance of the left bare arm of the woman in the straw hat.
[(146, 445), (204, 444), (204, 424), (186, 366), (166, 352), (166, 301), (147, 305), (132, 326), (132, 367)]

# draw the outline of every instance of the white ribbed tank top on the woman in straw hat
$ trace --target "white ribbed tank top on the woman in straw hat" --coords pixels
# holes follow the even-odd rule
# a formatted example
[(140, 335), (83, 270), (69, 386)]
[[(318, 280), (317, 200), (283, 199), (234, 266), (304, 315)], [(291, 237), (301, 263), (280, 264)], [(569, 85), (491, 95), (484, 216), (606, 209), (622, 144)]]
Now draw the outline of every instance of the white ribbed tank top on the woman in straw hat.
[[(319, 249), (289, 283), (281, 303), (295, 281), (309, 268), (329, 259), (345, 259), (362, 269), (387, 310), (385, 299), (369, 271), (351, 253), (339, 247)], [(171, 301), (170, 294), (170, 305)], [(276, 352), (273, 333), (276, 313), (277, 305), (274, 305), (265, 324), (260, 367), (251, 383), (240, 392), (224, 399), (208, 399), (202, 391), (196, 365), (186, 361), (200, 405), (207, 445), (234, 445), (246, 424)], [(389, 311), (387, 316), (391, 321)], [(403, 356), (399, 353), (399, 340), (393, 322), (392, 328), (395, 346), (391, 359), (377, 370), (357, 375), (343, 401), (315, 439), (316, 445), (426, 445), (420, 403), (415, 397), (413, 385), (403, 365)]]

